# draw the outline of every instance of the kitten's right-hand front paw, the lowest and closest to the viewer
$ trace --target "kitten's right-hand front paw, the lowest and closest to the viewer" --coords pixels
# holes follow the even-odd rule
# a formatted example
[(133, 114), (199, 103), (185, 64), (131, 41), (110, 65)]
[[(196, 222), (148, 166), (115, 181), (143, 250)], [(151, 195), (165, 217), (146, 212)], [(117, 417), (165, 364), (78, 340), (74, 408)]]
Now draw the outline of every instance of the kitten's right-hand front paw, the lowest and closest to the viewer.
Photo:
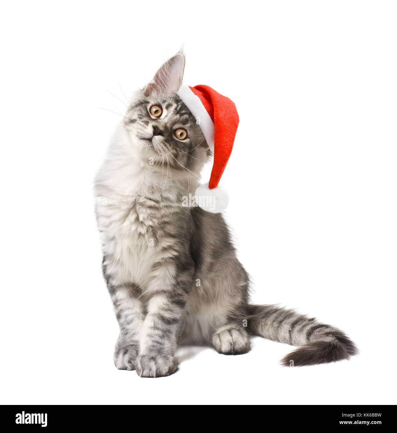
[(172, 355), (149, 353), (139, 355), (135, 368), (138, 375), (143, 378), (158, 378), (172, 375), (178, 368), (176, 359)]

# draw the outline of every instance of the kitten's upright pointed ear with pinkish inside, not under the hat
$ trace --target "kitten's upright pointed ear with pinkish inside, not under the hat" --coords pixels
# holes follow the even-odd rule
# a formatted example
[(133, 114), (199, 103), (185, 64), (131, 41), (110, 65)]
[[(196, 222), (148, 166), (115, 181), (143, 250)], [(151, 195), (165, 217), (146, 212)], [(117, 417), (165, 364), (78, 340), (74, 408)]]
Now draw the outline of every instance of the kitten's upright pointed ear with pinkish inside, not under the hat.
[(143, 92), (145, 96), (152, 93), (172, 94), (182, 86), (183, 70), (185, 69), (185, 56), (178, 53), (167, 60), (156, 72), (153, 81), (149, 83)]

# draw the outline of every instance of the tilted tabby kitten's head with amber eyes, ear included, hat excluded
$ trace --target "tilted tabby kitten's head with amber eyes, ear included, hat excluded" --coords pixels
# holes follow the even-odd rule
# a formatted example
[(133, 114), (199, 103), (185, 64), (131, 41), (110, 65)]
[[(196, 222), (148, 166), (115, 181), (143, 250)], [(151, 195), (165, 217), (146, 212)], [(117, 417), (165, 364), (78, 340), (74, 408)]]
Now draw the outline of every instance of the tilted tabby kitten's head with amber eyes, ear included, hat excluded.
[(199, 172), (210, 151), (199, 122), (177, 94), (184, 68), (181, 53), (166, 61), (136, 93), (124, 127), (143, 164)]

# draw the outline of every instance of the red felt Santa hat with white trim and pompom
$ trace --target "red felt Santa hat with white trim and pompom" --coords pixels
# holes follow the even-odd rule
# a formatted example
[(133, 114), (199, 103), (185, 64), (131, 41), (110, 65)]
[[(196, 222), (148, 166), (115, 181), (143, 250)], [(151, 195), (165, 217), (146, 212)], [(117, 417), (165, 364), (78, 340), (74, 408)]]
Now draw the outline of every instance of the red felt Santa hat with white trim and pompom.
[(228, 205), (226, 191), (218, 186), (231, 154), (238, 126), (238, 113), (234, 102), (211, 87), (200, 84), (182, 86), (179, 97), (195, 116), (208, 147), (214, 152), (214, 164), (208, 184), (195, 192), (199, 206), (212, 213), (223, 212)]

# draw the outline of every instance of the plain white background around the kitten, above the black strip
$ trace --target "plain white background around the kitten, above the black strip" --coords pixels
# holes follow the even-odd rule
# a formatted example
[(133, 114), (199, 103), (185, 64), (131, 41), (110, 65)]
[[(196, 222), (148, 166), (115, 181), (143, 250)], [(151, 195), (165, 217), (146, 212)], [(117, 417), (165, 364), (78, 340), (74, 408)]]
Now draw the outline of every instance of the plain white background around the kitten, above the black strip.
[[(395, 2), (2, 9), (1, 402), (396, 403)], [(345, 330), (351, 361), (282, 368), (292, 348), (256, 337), (247, 355), (180, 350), (168, 378), (114, 368), (92, 181), (117, 98), (182, 44), (185, 83), (240, 113), (223, 184), (253, 300)]]

